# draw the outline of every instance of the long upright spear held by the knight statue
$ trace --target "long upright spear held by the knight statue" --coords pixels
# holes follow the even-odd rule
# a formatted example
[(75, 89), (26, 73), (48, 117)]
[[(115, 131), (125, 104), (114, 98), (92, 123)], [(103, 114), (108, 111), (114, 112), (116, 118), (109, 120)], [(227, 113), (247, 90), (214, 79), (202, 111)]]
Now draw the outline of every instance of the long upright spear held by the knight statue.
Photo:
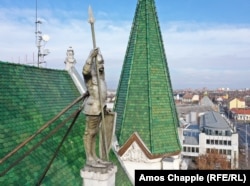
[[(94, 16), (93, 16), (93, 12), (91, 9), (91, 6), (89, 6), (89, 23), (91, 25), (91, 33), (92, 33), (92, 41), (93, 41), (93, 48), (96, 48), (96, 40), (95, 40), (95, 29), (94, 29)], [(105, 153), (105, 159), (109, 160), (108, 158), (108, 148), (107, 148), (107, 140), (106, 140), (106, 131), (105, 131), (105, 120), (104, 120), (104, 110), (103, 110), (103, 103), (102, 103), (102, 99), (101, 99), (101, 85), (100, 85), (100, 74), (99, 74), (99, 70), (97, 68), (97, 60), (96, 58), (94, 59), (95, 61), (95, 65), (96, 65), (96, 72), (97, 72), (97, 84), (98, 84), (98, 94), (99, 94), (99, 101), (100, 101), (100, 105), (101, 105), (101, 113), (102, 113), (102, 125), (101, 125), (101, 140), (104, 143), (104, 153)], [(102, 144), (101, 144), (102, 145)], [(100, 155), (102, 156), (102, 153), (100, 153)], [(101, 157), (103, 158), (103, 157)]]

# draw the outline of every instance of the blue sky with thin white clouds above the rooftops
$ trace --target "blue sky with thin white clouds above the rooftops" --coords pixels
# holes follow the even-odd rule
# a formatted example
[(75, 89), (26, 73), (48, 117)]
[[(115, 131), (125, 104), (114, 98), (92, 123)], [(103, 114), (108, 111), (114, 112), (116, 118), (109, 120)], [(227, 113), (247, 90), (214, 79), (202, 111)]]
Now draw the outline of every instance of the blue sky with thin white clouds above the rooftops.
[[(81, 74), (92, 49), (88, 7), (105, 59), (108, 88), (118, 85), (137, 0), (37, 0), (50, 36), (44, 67), (64, 69), (72, 46)], [(174, 89), (250, 88), (249, 0), (155, 0)], [(0, 0), (0, 60), (37, 61), (36, 0)], [(33, 57), (35, 56), (35, 57)], [(35, 63), (34, 65), (37, 66)]]

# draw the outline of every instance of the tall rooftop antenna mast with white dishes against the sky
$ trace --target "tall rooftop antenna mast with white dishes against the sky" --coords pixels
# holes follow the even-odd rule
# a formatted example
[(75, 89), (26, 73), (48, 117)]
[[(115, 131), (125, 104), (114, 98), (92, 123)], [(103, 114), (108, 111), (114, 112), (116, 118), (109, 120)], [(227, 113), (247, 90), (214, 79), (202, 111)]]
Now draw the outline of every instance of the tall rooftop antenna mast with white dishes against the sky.
[(36, 0), (36, 46), (37, 46), (37, 66), (40, 67), (40, 64), (46, 63), (44, 61), (44, 57), (48, 55), (49, 49), (44, 49), (45, 44), (49, 41), (50, 37), (47, 34), (42, 35), (40, 30), (40, 25), (42, 21), (38, 20), (37, 18), (37, 0)]

